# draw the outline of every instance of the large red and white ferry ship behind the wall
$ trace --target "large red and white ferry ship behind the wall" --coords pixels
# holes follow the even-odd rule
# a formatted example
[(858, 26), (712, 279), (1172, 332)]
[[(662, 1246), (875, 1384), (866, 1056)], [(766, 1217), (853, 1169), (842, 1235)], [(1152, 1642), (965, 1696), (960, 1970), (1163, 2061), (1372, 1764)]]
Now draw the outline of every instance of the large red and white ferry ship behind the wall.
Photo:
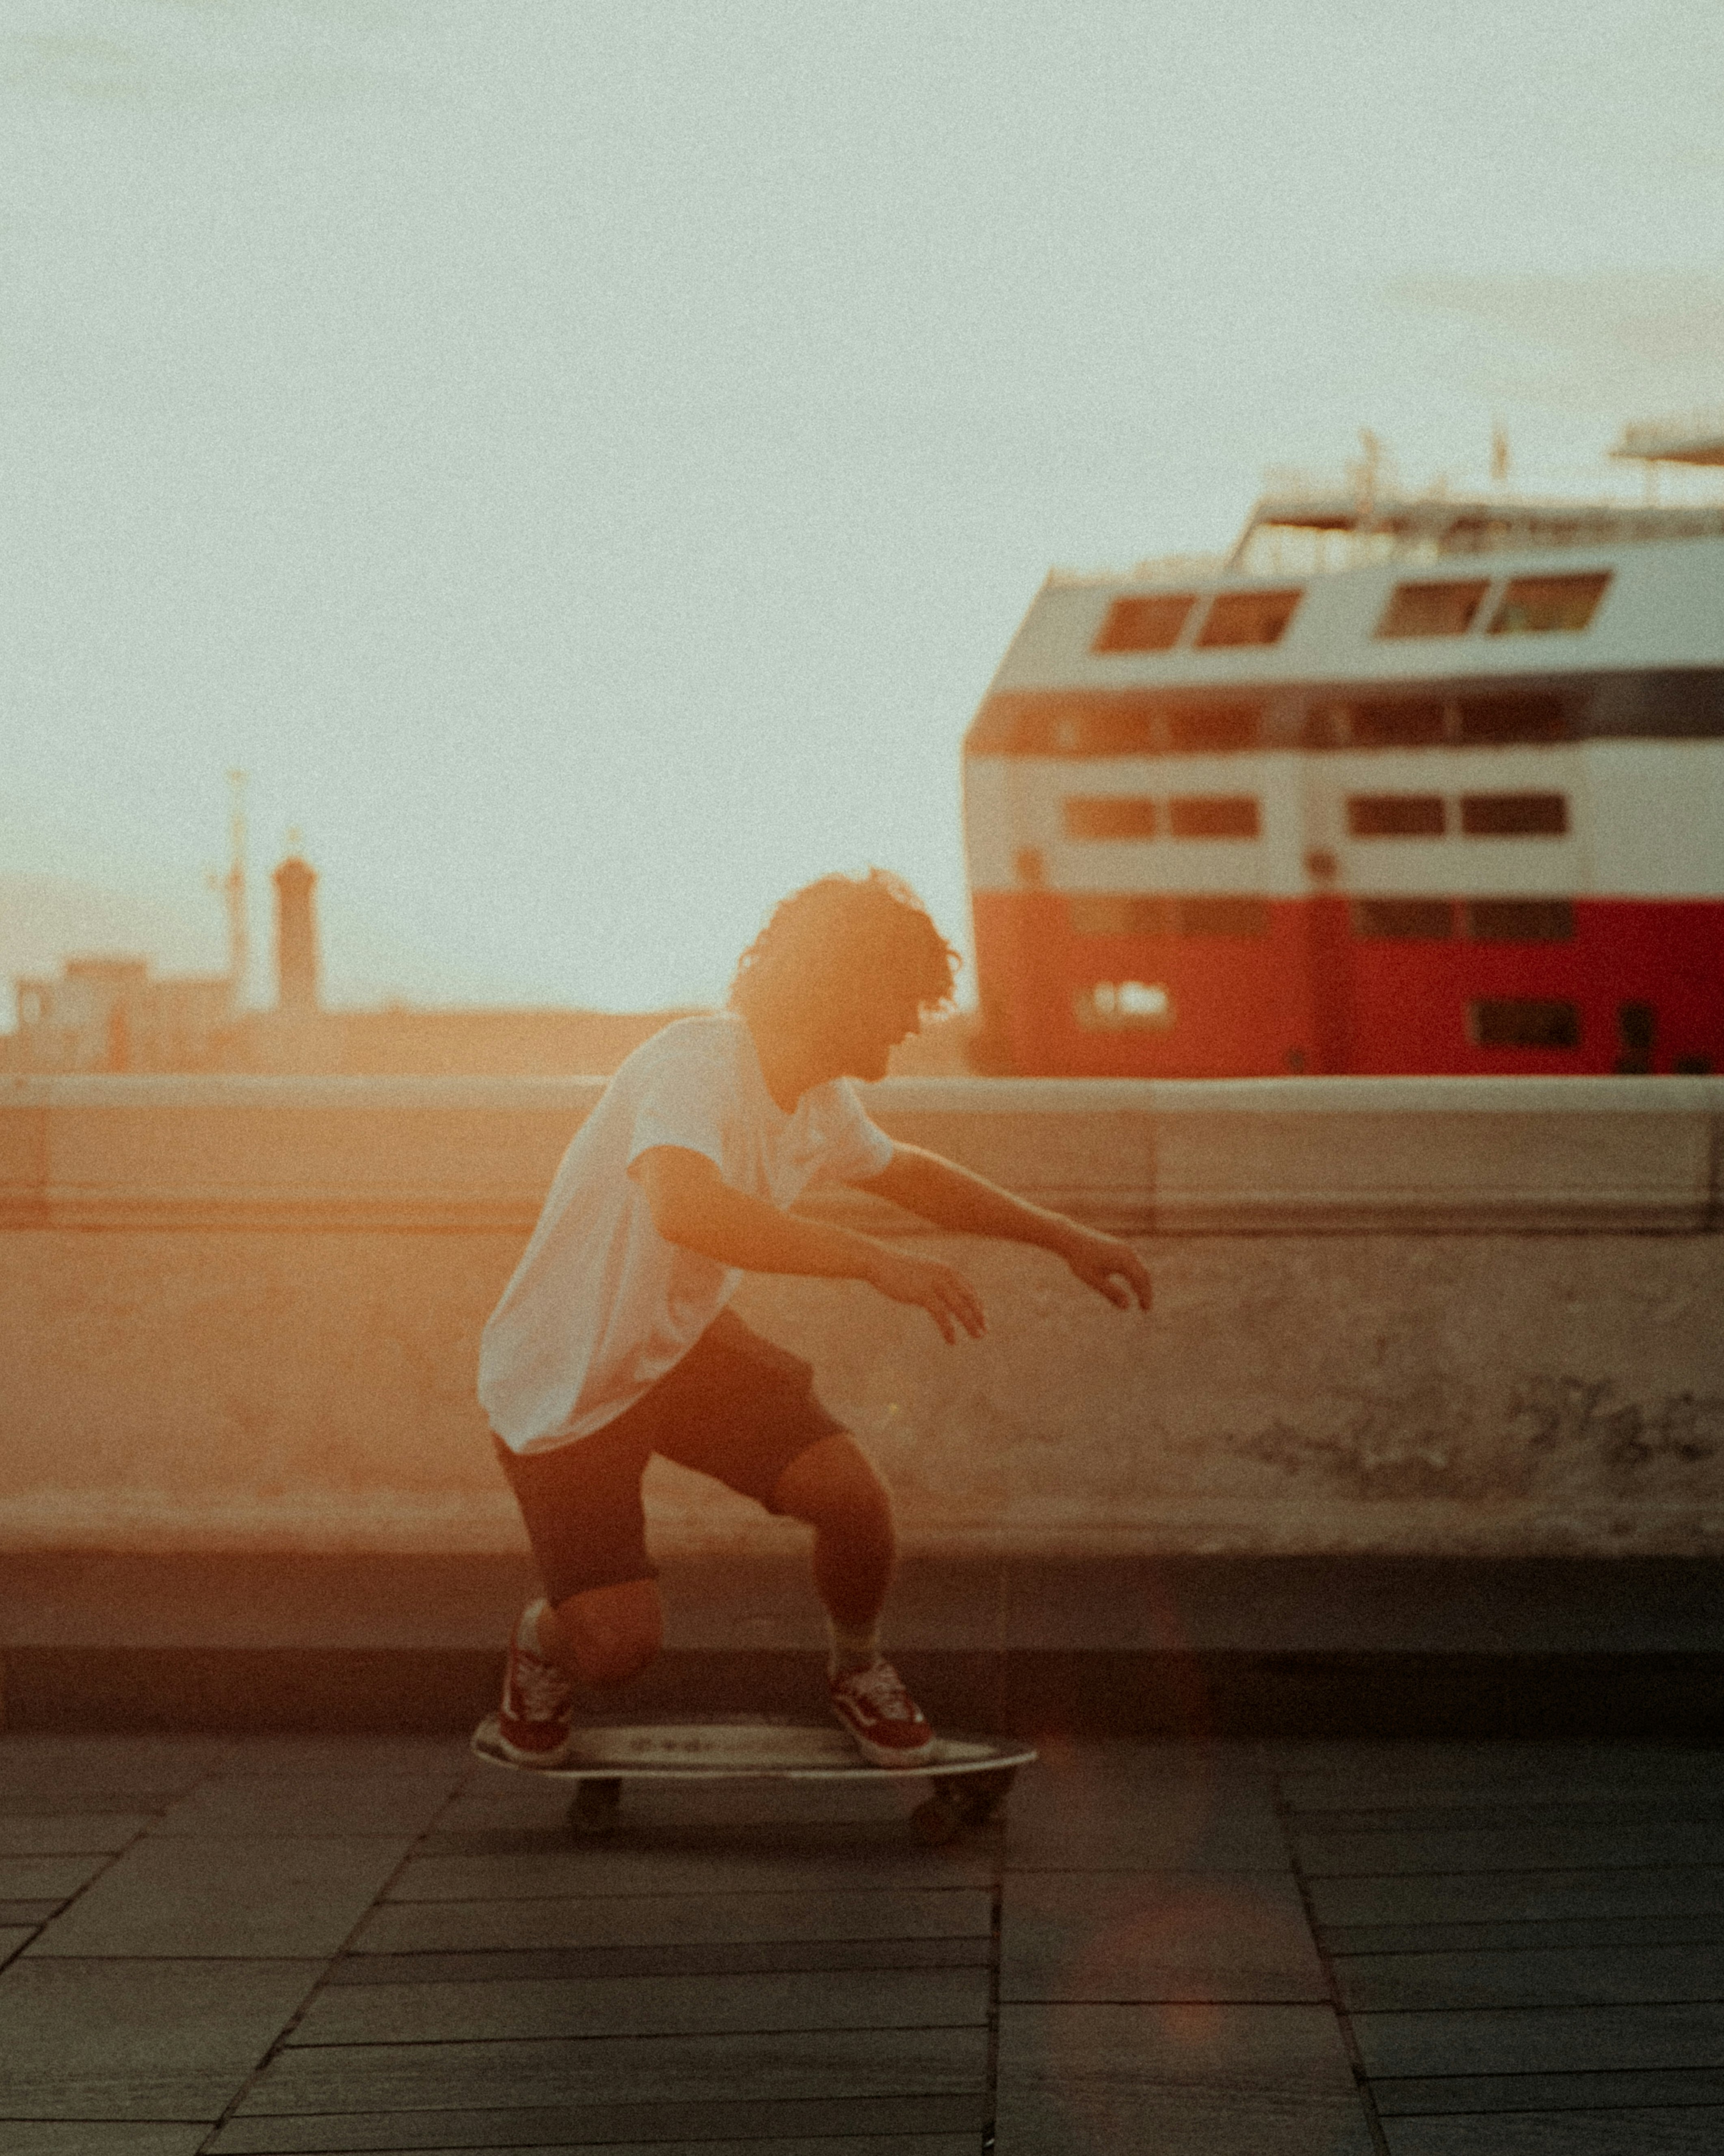
[(1724, 502), (1366, 470), (1211, 573), (1049, 576), (963, 817), (978, 1069), (1722, 1069)]

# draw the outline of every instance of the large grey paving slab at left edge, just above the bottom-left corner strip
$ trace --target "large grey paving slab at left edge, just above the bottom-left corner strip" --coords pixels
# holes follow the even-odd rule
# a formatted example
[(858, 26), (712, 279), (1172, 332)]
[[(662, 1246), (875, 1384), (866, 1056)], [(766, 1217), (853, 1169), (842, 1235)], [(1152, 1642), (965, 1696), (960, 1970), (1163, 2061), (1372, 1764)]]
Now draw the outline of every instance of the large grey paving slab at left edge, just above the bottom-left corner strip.
[(0, 2117), (213, 2122), (315, 1971), (304, 1962), (52, 1962), (0, 1971)]

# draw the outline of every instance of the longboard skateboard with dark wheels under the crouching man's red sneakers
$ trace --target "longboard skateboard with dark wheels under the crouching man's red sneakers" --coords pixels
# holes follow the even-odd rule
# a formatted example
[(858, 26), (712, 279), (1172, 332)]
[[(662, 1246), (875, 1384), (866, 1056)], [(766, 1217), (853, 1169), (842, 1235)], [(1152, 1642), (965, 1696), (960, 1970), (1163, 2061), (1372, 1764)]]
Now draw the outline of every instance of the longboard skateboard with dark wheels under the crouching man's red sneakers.
[(500, 1749), (496, 1714), (474, 1729), (472, 1749), (511, 1774), (573, 1783), (569, 1830), (580, 1837), (614, 1830), (625, 1781), (924, 1781), (909, 1824), (933, 1846), (985, 1826), (1034, 1759), (1028, 1744), (942, 1736), (922, 1766), (871, 1766), (843, 1729), (808, 1723), (636, 1723), (575, 1731), (560, 1766), (519, 1766)]

